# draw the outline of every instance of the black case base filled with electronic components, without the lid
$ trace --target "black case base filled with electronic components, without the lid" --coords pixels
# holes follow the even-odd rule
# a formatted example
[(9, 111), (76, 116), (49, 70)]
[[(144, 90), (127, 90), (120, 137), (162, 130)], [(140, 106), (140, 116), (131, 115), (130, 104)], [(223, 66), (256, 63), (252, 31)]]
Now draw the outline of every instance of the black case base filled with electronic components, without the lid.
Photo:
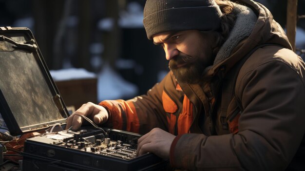
[(136, 156), (140, 136), (91, 127), (35, 136), (26, 140), (23, 170), (164, 171), (168, 161), (152, 153)]

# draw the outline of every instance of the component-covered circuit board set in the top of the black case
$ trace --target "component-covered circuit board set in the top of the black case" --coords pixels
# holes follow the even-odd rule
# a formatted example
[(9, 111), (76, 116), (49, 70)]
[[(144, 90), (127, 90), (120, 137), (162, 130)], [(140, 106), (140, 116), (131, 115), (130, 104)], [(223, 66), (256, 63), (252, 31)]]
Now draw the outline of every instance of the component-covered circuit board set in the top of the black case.
[[(122, 140), (124, 140), (124, 136), (122, 137)], [(136, 157), (137, 139), (138, 136), (134, 136), (129, 142), (127, 142), (128, 140), (126, 137), (125, 141), (114, 141), (107, 137), (107, 133), (105, 137), (105, 133), (103, 133), (102, 130), (93, 129), (82, 129), (77, 132), (65, 130), (29, 138), (31, 141), (77, 149), (83, 152), (92, 152), (95, 154), (117, 157), (124, 160), (131, 160)], [(48, 151), (47, 155), (52, 157), (54, 152)]]

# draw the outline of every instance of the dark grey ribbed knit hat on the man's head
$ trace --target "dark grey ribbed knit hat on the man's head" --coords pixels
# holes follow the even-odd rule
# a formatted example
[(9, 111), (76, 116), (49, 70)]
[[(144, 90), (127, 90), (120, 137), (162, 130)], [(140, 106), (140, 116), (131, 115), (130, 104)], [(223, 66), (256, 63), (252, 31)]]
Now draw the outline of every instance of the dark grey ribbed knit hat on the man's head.
[(221, 16), (214, 0), (147, 0), (143, 23), (152, 39), (167, 31), (217, 30)]

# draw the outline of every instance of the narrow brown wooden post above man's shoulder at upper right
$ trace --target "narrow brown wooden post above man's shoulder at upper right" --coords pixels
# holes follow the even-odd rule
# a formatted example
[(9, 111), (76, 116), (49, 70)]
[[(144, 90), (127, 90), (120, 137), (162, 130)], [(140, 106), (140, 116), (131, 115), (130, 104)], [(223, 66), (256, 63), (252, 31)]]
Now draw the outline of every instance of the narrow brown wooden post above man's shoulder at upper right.
[(297, 6), (298, 0), (287, 0), (287, 37), (295, 52), (295, 35), (297, 28)]

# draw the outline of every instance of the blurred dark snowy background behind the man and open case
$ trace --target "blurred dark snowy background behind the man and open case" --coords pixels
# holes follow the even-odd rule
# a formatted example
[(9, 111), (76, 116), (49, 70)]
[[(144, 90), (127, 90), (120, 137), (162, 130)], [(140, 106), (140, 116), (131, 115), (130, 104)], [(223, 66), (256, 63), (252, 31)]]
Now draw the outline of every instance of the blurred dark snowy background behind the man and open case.
[[(257, 1), (286, 27), (287, 0)], [(0, 26), (32, 30), (64, 101), (78, 108), (87, 101), (145, 94), (169, 71), (163, 49), (146, 37), (144, 4), (145, 0), (0, 0)], [(305, 15), (305, 0), (298, 0), (298, 15)], [(298, 19), (297, 26), (296, 47), (305, 49), (305, 19)]]

